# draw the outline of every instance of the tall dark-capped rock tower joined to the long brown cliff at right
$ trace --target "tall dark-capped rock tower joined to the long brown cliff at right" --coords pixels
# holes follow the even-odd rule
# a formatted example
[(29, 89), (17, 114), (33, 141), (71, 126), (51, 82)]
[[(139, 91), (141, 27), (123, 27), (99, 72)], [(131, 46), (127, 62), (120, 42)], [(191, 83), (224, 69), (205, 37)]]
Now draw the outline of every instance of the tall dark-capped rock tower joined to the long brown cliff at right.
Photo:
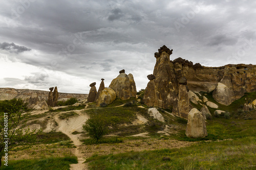
[[(173, 108), (174, 114), (187, 117), (188, 112), (180, 110), (179, 85), (185, 85), (190, 91), (214, 92), (214, 98), (221, 104), (229, 105), (240, 99), (245, 92), (256, 91), (256, 65), (228, 64), (221, 67), (205, 67), (199, 63), (177, 58), (169, 60), (172, 50), (162, 46), (155, 53), (156, 65), (154, 80), (148, 82), (143, 101), (148, 106)], [(185, 81), (185, 79), (186, 81)], [(217, 87), (218, 83), (219, 86)]]

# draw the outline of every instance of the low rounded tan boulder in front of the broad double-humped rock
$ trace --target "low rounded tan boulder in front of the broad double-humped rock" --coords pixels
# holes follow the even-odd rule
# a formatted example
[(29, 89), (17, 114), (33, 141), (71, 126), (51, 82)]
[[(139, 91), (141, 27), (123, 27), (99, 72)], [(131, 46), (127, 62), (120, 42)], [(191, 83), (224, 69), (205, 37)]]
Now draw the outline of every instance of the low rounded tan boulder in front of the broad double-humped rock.
[(111, 104), (115, 99), (116, 92), (112, 88), (106, 87), (100, 92), (96, 106), (99, 107), (101, 103)]

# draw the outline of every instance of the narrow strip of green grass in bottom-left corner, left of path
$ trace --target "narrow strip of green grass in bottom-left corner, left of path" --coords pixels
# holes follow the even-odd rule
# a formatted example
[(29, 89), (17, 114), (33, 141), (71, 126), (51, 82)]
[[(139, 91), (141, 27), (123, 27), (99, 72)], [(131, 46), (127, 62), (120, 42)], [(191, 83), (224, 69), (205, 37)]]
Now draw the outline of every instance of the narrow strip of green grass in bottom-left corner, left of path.
[(62, 158), (44, 158), (44, 159), (24, 159), (24, 160), (9, 160), (8, 166), (4, 165), (0, 169), (40, 169), (40, 170), (65, 170), (70, 169), (70, 164), (78, 163), (77, 157), (62, 157)]

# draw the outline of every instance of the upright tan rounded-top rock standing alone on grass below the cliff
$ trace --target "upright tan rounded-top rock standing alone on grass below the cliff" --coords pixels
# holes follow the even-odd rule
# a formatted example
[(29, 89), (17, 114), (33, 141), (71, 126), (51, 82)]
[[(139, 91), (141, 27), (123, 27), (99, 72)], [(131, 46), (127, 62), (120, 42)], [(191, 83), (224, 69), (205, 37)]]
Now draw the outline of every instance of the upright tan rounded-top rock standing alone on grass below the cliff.
[(202, 113), (196, 108), (191, 109), (188, 113), (186, 127), (186, 136), (199, 138), (207, 136), (206, 125)]

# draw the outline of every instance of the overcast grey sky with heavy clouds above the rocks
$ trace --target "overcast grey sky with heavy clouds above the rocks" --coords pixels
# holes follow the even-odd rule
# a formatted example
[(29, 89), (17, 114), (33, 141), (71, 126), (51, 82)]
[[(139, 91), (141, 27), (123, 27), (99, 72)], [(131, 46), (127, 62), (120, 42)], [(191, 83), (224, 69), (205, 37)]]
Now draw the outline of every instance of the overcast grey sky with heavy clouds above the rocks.
[(154, 53), (194, 64), (256, 64), (256, 1), (0, 1), (0, 87), (89, 93), (125, 69), (137, 91)]

